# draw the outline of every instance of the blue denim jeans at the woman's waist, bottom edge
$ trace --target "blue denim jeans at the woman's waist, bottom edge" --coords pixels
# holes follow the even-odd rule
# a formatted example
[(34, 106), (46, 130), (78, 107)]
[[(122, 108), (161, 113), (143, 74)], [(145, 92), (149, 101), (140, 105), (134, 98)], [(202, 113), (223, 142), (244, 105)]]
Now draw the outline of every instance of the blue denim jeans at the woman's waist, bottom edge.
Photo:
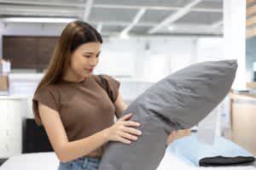
[(100, 161), (99, 158), (83, 156), (66, 163), (60, 161), (58, 170), (98, 170)]

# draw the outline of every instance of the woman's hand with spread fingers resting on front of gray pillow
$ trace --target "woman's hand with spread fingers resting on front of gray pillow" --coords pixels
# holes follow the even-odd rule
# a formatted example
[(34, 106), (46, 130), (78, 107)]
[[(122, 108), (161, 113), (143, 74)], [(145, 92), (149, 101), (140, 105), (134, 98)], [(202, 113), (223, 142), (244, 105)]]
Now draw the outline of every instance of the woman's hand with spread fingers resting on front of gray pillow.
[(119, 141), (125, 144), (131, 144), (131, 141), (136, 141), (138, 136), (142, 134), (141, 131), (134, 127), (140, 126), (139, 122), (128, 121), (132, 114), (127, 114), (117, 122), (115, 122), (111, 127), (107, 129), (107, 138), (110, 141)]

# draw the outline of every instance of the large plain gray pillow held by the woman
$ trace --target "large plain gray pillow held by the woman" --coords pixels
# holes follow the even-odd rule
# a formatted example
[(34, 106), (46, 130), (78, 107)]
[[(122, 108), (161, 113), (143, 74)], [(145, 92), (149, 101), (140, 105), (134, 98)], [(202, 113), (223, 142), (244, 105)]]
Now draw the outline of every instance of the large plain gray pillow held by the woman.
[(156, 82), (124, 111), (133, 113), (143, 134), (136, 142), (109, 142), (100, 170), (155, 170), (166, 151), (172, 130), (195, 126), (229, 92), (236, 75), (236, 60), (190, 65)]

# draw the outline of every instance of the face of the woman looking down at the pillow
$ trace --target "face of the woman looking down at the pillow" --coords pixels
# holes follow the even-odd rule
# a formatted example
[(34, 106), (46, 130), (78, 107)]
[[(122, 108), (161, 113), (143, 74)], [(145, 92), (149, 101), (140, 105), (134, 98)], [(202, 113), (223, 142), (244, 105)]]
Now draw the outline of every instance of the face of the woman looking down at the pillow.
[(89, 77), (99, 62), (102, 44), (86, 42), (75, 49), (71, 55), (70, 69), (76, 77)]

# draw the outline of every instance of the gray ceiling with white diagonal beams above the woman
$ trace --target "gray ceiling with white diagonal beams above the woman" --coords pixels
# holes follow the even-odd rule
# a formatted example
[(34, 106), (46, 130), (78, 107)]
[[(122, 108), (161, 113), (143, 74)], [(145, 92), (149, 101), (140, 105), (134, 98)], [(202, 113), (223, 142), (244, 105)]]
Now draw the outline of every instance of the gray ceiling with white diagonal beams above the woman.
[(223, 35), (223, 0), (0, 0), (0, 17), (75, 18), (103, 35)]

